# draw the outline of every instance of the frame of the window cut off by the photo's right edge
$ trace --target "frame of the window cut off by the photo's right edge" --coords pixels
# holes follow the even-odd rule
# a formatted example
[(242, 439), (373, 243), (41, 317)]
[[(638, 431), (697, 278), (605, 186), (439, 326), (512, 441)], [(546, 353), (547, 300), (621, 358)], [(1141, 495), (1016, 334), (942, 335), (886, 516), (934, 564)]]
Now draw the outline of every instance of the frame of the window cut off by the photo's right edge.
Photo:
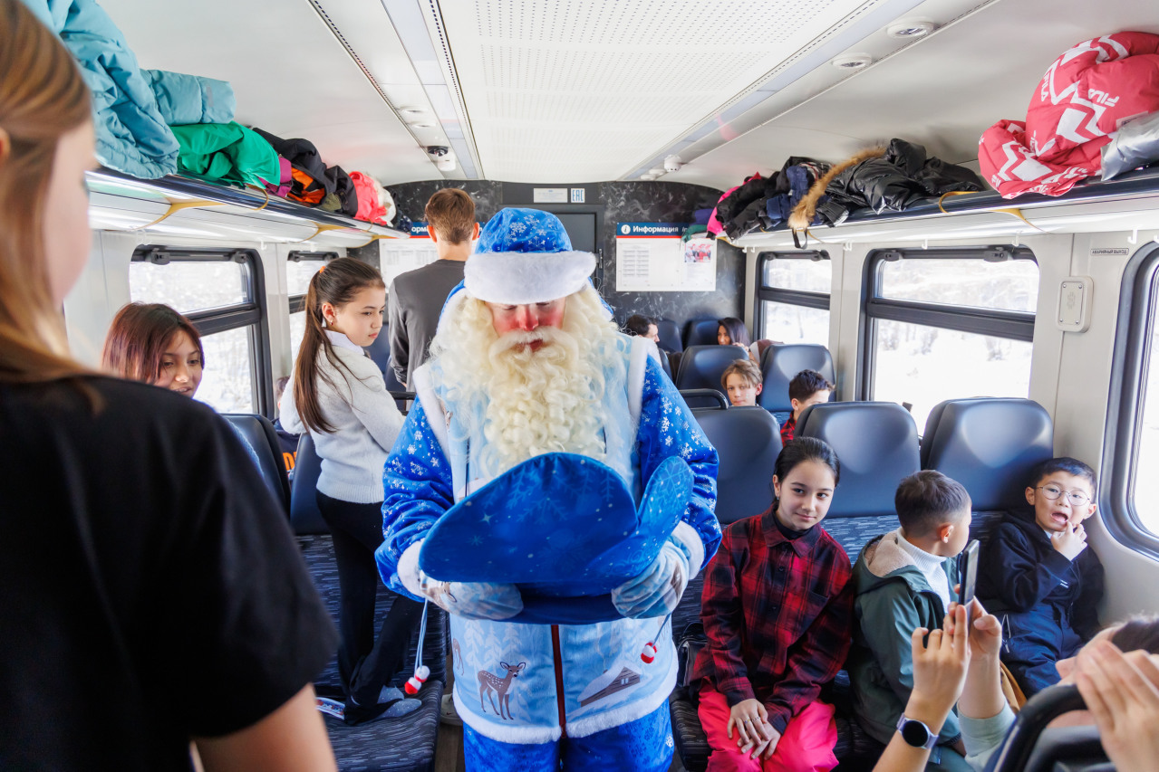
[[(1144, 396), (1150, 368), (1159, 348), (1151, 348), (1154, 325), (1159, 323), (1159, 245), (1149, 243), (1131, 256), (1123, 271), (1115, 348), (1111, 356), (1111, 387), (1107, 397), (1103, 432), (1099, 513), (1115, 541), (1128, 549), (1159, 560), (1159, 535), (1147, 531), (1135, 512), (1136, 463)], [(1120, 373), (1115, 385), (1114, 374)], [(1159, 395), (1151, 395), (1159, 399)]]

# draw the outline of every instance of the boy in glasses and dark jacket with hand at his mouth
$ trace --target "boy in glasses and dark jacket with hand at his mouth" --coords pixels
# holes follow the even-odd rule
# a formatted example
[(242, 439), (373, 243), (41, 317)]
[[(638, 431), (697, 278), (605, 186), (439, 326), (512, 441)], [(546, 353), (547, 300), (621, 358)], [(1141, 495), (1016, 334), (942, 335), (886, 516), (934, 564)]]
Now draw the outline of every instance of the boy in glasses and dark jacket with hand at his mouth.
[(1074, 458), (1035, 468), (1026, 500), (982, 551), (978, 595), (1005, 617), (1003, 662), (1027, 697), (1058, 683), (1055, 663), (1099, 632), (1102, 564), (1088, 550), (1083, 521), (1094, 514), (1094, 470)]

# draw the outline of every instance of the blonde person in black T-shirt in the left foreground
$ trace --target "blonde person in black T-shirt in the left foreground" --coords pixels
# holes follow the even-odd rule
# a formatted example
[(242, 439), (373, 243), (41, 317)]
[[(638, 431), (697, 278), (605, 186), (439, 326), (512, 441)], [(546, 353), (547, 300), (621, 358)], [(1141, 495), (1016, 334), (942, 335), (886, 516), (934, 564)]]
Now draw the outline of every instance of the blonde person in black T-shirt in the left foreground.
[(336, 637), (209, 407), (100, 377), (58, 309), (90, 235), (89, 94), (0, 0), (0, 769), (334, 770)]

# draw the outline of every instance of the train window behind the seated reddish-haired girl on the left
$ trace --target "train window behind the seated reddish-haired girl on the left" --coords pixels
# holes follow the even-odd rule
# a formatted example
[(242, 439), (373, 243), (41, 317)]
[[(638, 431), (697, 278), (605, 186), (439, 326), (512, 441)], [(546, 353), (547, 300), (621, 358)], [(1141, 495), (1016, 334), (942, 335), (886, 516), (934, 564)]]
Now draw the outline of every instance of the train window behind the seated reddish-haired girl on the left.
[(129, 294), (134, 301), (172, 306), (201, 331), (205, 373), (197, 399), (223, 413), (265, 412), (272, 394), (256, 252), (138, 247), (129, 267)]

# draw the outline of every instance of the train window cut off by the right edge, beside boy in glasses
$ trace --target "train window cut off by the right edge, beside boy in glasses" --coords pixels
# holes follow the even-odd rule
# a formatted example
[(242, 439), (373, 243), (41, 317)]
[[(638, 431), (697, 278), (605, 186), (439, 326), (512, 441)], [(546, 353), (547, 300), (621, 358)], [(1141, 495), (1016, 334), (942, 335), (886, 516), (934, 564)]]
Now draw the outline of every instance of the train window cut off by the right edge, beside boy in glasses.
[(1118, 541), (1159, 557), (1159, 505), (1147, 487), (1159, 468), (1159, 247), (1123, 274), (1107, 413), (1103, 522)]

